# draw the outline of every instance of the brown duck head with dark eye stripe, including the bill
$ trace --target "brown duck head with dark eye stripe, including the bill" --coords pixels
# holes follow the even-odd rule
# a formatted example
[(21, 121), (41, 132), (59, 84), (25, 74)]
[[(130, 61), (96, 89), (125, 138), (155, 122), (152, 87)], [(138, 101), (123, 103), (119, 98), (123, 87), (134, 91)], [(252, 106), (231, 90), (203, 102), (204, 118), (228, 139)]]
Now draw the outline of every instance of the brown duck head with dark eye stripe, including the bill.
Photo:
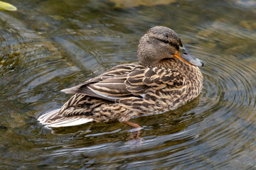
[(153, 27), (142, 36), (139, 40), (138, 58), (139, 62), (147, 67), (157, 67), (164, 60), (177, 59), (203, 67), (203, 62), (186, 50), (174, 30), (164, 26)]

